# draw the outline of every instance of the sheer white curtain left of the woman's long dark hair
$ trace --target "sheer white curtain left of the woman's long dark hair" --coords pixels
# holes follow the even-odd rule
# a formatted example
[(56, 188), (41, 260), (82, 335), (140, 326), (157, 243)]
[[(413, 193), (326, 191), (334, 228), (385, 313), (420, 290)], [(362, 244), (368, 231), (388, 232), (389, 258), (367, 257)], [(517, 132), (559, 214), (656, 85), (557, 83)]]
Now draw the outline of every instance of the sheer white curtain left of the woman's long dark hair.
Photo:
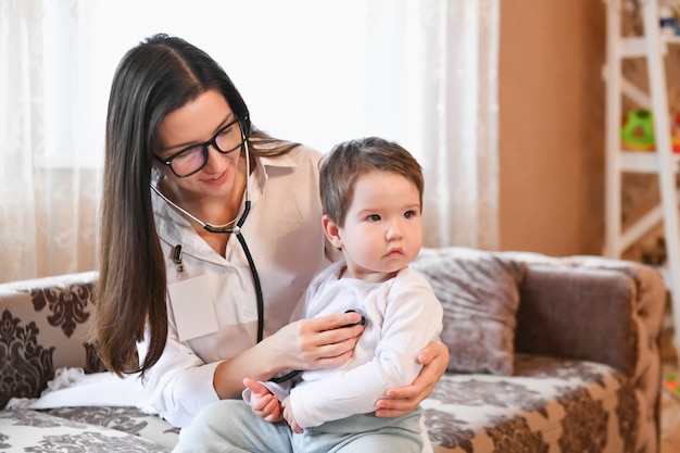
[(91, 4), (0, 0), (0, 281), (95, 267)]

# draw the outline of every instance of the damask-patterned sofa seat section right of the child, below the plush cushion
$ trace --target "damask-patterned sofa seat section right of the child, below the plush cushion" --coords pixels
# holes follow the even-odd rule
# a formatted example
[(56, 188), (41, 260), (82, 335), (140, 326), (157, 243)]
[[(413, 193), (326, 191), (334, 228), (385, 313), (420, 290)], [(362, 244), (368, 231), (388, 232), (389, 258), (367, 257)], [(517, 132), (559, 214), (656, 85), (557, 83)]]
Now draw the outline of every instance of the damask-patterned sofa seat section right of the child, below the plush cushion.
[(638, 450), (630, 381), (594, 362), (516, 355), (513, 378), (446, 374), (423, 402), (435, 453)]

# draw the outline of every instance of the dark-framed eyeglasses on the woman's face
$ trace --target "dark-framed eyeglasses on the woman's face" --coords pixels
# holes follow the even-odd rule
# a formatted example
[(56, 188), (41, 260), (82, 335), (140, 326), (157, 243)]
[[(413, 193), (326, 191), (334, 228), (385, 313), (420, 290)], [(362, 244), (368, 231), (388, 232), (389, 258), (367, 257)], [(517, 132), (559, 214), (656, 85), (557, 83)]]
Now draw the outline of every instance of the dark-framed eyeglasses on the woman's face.
[(178, 178), (186, 178), (207, 164), (207, 148), (210, 146), (213, 146), (223, 154), (229, 154), (240, 149), (243, 146), (243, 141), (245, 141), (243, 127), (241, 126), (243, 121), (244, 118), (236, 118), (219, 129), (211, 140), (186, 148), (167, 159), (159, 158), (155, 154), (153, 156), (163, 165), (169, 166)]

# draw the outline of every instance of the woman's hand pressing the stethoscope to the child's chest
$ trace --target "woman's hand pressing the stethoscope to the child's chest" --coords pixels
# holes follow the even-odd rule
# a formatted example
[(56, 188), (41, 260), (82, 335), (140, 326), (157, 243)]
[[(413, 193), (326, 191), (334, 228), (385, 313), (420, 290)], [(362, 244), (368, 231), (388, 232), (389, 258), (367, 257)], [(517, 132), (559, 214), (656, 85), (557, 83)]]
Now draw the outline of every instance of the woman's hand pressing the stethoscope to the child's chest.
[(265, 341), (280, 369), (335, 367), (354, 354), (364, 331), (364, 327), (355, 325), (360, 320), (358, 313), (302, 319), (285, 326)]

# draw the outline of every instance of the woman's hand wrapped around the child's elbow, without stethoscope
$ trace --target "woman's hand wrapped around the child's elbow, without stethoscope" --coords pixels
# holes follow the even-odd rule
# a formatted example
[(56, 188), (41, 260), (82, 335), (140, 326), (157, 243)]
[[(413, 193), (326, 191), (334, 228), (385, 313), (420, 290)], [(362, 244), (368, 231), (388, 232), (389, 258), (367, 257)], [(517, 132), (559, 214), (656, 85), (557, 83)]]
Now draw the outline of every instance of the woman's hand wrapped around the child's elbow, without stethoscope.
[(418, 377), (411, 386), (387, 391), (387, 395), (376, 403), (377, 417), (399, 417), (412, 412), (428, 398), (449, 365), (449, 349), (440, 341), (430, 342), (418, 353), (417, 361), (423, 365)]

